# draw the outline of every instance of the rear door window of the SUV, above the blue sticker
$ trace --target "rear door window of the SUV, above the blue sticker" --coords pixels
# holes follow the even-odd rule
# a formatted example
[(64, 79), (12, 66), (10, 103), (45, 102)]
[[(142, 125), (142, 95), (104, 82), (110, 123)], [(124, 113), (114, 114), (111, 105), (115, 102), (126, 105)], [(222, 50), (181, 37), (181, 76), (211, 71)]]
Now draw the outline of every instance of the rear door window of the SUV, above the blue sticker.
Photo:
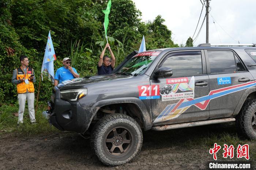
[(211, 73), (230, 73), (237, 71), (232, 51), (207, 51)]

